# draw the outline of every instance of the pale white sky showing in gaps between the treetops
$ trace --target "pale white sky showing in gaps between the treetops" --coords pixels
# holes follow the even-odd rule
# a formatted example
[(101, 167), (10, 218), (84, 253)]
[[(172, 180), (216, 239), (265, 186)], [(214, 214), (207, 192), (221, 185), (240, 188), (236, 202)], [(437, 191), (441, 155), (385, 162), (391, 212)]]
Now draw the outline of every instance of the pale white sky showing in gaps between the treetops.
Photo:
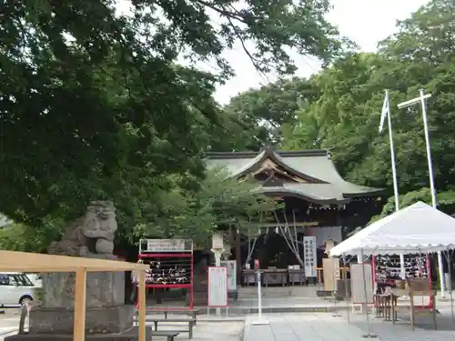
[[(397, 31), (397, 20), (403, 20), (419, 9), (428, 0), (331, 0), (334, 6), (328, 19), (339, 27), (341, 35), (348, 36), (365, 52), (374, 52), (379, 41)], [(250, 88), (258, 88), (274, 81), (273, 75), (259, 74), (241, 46), (225, 54), (237, 76), (226, 85), (217, 88), (215, 98), (227, 104), (229, 98)], [(319, 70), (319, 62), (311, 56), (293, 55), (298, 65), (299, 76), (312, 75)]]

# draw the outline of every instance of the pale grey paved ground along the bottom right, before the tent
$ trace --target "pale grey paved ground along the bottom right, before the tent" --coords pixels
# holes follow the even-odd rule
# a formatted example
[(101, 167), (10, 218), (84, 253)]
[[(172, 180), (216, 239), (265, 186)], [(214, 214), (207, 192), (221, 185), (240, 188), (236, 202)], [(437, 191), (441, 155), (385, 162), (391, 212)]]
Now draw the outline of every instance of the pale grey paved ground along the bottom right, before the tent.
[[(447, 312), (444, 312), (447, 313)], [(455, 323), (449, 315), (439, 316), (440, 330), (416, 328), (401, 322), (393, 326), (390, 322), (372, 318), (371, 334), (378, 341), (448, 341), (455, 340)], [(248, 316), (244, 341), (360, 341), (368, 334), (365, 316), (350, 314), (348, 323), (346, 313), (333, 317), (330, 313), (269, 314), (269, 326), (253, 326), (255, 316)], [(430, 326), (428, 321), (426, 326)], [(422, 320), (418, 320), (422, 323)]]

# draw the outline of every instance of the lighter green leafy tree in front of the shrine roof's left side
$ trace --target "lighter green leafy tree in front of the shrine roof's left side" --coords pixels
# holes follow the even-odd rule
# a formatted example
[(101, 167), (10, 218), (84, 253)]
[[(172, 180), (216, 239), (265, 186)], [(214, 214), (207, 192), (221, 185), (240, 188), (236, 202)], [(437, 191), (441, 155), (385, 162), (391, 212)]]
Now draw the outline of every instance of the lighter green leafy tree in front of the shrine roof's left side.
[(163, 193), (157, 210), (145, 203), (142, 212), (148, 209), (148, 216), (136, 225), (136, 236), (190, 237), (197, 245), (206, 245), (219, 228), (254, 234), (251, 222), (271, 216), (279, 206), (259, 194), (254, 181), (238, 182), (224, 169), (208, 171), (199, 185), (197, 191), (176, 187)]

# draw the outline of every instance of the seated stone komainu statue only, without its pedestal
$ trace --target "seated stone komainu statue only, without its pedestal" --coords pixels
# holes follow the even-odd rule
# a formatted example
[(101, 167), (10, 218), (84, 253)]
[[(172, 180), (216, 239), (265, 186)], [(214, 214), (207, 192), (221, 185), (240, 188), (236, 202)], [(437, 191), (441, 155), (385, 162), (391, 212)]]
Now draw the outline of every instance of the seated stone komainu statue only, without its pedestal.
[(86, 215), (66, 228), (59, 242), (48, 248), (51, 255), (113, 258), (116, 208), (108, 201), (92, 201)]

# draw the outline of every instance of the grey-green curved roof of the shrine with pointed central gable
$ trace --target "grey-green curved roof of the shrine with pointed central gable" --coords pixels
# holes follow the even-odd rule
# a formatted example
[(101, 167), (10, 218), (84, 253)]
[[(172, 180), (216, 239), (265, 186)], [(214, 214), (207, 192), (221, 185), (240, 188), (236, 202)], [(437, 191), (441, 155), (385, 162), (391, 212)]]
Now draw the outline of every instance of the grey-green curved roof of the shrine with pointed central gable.
[(242, 177), (258, 170), (267, 159), (301, 181), (261, 186), (260, 191), (278, 196), (302, 196), (319, 204), (343, 204), (352, 197), (379, 196), (380, 188), (359, 186), (344, 180), (327, 150), (208, 153), (208, 168), (225, 168), (229, 176)]

